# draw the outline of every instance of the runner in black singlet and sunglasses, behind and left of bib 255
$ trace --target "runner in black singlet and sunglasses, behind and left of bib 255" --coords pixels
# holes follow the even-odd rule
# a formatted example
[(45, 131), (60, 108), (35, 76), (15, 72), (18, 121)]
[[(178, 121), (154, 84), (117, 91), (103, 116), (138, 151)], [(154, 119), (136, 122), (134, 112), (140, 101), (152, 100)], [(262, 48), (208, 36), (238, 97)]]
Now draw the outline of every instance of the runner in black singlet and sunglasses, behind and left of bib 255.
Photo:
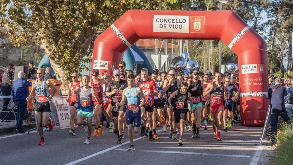
[[(175, 127), (175, 121), (174, 119), (174, 114), (173, 114), (173, 109), (169, 107), (169, 102), (168, 99), (169, 97), (175, 92), (176, 90), (180, 89), (181, 81), (175, 79), (175, 70), (171, 69), (168, 74), (170, 80), (166, 79), (164, 80), (164, 85), (163, 85), (163, 93), (166, 92), (167, 94), (167, 101), (166, 101), (166, 107), (167, 107), (167, 112), (169, 116), (169, 124), (170, 124), (170, 132), (169, 132), (169, 138), (171, 139), (177, 139), (177, 132), (176, 129), (174, 130)], [(175, 99), (173, 98), (171, 100), (171, 103), (174, 105)]]

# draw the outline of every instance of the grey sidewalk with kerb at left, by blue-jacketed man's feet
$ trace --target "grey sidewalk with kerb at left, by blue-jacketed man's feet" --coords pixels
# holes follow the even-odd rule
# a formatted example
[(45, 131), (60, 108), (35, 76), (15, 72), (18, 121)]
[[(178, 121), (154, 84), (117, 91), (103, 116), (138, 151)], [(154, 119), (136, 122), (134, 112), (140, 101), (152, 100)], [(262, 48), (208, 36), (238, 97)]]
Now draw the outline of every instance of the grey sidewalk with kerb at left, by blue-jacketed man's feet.
[[(15, 133), (16, 131), (16, 120), (4, 120), (0, 121), (0, 135)], [(23, 131), (33, 129), (36, 127), (35, 121), (26, 122), (23, 120), (22, 129)]]

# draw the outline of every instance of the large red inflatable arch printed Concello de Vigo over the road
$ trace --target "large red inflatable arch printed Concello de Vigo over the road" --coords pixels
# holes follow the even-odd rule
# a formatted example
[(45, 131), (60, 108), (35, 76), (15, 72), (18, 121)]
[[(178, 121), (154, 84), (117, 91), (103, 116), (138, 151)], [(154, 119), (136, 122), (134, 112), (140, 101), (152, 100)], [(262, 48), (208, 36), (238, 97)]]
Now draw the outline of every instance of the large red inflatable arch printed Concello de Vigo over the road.
[(141, 38), (221, 40), (238, 55), (242, 125), (263, 126), (268, 110), (267, 45), (233, 11), (129, 10), (96, 38), (92, 69), (112, 73)]

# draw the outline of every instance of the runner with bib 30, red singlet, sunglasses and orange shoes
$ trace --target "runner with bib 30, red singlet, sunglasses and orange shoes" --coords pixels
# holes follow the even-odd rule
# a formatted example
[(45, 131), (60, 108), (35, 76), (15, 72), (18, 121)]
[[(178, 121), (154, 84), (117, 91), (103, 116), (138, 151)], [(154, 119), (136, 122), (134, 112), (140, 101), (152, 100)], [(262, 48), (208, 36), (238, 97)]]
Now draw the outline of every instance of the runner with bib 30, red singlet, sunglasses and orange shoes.
[(100, 101), (97, 101), (95, 97), (93, 97), (93, 107), (94, 107), (94, 120), (95, 120), (95, 131), (93, 136), (101, 136), (103, 134), (103, 126), (100, 125), (100, 119), (102, 114), (102, 100), (103, 100), (103, 92), (102, 87), (103, 85), (108, 85), (108, 82), (99, 79), (100, 70), (93, 69), (92, 76), (93, 78), (90, 80), (89, 86), (92, 87), (96, 91), (96, 95), (98, 96)]

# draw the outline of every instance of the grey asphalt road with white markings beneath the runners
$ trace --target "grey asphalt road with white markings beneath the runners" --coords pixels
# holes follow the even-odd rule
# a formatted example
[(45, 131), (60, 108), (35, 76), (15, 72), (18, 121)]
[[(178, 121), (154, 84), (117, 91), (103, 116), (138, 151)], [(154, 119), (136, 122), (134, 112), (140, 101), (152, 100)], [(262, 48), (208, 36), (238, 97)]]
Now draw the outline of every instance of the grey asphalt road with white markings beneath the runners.
[[(211, 125), (211, 123), (209, 123)], [(185, 130), (183, 146), (178, 140), (159, 132), (158, 140), (149, 141), (134, 134), (135, 151), (129, 147), (127, 133), (123, 144), (116, 144), (116, 136), (103, 127), (104, 134), (91, 137), (91, 144), (83, 144), (87, 134), (76, 128), (76, 136), (69, 129), (44, 132), (45, 145), (38, 146), (37, 132), (19, 136), (0, 137), (0, 164), (255, 164), (263, 150), (259, 146), (262, 128), (243, 127), (236, 123), (233, 129), (222, 133), (223, 141), (213, 139), (213, 131), (200, 129), (200, 139), (192, 139)], [(158, 130), (158, 129), (157, 129)], [(160, 130), (160, 129), (159, 129)], [(126, 130), (127, 131), (127, 130)], [(168, 131), (168, 130), (167, 130)]]

